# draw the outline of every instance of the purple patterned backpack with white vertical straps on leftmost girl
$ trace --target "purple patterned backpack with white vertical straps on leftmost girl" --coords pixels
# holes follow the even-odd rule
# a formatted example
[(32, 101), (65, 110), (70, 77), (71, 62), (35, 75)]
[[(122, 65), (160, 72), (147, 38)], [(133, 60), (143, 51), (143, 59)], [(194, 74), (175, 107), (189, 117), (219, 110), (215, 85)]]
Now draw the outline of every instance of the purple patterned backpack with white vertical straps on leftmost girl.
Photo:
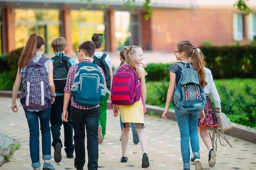
[(31, 62), (25, 70), (20, 103), (26, 110), (45, 110), (51, 106), (48, 73), (44, 65), (47, 60), (41, 57), (38, 62)]

